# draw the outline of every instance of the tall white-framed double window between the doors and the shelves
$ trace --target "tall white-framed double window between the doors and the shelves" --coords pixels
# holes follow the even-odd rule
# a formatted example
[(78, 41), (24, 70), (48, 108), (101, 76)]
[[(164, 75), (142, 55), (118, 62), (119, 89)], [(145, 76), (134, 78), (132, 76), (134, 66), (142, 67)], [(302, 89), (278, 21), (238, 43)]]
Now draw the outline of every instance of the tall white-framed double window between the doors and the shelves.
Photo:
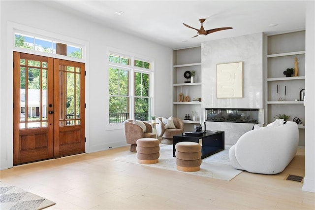
[(109, 54), (109, 124), (150, 119), (152, 63), (119, 53)]

